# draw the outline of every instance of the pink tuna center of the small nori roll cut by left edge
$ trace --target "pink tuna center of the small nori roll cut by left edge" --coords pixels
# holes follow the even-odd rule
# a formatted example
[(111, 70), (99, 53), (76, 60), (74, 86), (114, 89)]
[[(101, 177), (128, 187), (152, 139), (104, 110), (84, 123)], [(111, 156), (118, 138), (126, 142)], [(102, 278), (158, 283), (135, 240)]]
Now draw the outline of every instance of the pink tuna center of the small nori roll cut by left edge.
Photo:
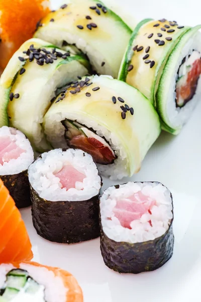
[(0, 164), (17, 160), (25, 152), (9, 136), (0, 137)]

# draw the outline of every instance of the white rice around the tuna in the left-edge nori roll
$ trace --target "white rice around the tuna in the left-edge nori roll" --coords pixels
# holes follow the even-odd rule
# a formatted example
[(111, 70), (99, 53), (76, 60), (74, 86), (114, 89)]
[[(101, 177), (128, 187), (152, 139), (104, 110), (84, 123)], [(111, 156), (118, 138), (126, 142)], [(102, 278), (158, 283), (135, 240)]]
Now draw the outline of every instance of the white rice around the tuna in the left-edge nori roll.
[[(34, 153), (29, 139), (19, 130), (7, 126), (0, 128), (0, 137), (9, 136), (13, 142), (20, 148), (26, 150), (23, 152), (18, 159), (12, 159), (8, 163), (4, 162), (0, 164), (0, 175), (13, 175), (23, 172), (34, 161)], [(4, 161), (4, 159), (3, 159)]]

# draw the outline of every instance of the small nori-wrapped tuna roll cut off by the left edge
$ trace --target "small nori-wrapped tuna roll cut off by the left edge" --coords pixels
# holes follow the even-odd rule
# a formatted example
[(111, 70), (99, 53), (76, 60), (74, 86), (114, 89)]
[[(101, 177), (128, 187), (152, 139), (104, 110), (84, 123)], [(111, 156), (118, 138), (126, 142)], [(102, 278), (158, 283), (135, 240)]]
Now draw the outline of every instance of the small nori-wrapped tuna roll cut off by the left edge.
[(26, 136), (15, 128), (0, 128), (0, 178), (18, 208), (31, 205), (27, 169), (33, 161), (33, 149)]

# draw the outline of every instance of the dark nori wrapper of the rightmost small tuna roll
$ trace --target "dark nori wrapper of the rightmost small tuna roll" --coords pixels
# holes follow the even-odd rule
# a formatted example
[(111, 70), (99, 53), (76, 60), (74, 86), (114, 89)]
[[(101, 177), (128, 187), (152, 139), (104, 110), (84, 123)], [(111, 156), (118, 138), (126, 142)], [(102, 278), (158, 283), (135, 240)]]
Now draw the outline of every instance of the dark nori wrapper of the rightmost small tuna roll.
[[(115, 187), (119, 188), (119, 185)], [(172, 199), (172, 194), (170, 196)], [(153, 271), (161, 267), (173, 254), (174, 235), (172, 221), (173, 218), (169, 229), (161, 237), (134, 244), (116, 242), (108, 238), (100, 222), (100, 251), (105, 264), (119, 273), (133, 274)]]

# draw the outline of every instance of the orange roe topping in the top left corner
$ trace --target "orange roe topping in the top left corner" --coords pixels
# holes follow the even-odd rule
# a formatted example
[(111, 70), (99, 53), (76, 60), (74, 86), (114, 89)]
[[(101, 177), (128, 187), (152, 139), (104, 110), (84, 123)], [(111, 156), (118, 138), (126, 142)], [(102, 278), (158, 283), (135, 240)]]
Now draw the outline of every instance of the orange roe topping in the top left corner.
[(14, 52), (32, 38), (37, 22), (50, 12), (49, 0), (0, 1), (0, 67), (5, 68)]

